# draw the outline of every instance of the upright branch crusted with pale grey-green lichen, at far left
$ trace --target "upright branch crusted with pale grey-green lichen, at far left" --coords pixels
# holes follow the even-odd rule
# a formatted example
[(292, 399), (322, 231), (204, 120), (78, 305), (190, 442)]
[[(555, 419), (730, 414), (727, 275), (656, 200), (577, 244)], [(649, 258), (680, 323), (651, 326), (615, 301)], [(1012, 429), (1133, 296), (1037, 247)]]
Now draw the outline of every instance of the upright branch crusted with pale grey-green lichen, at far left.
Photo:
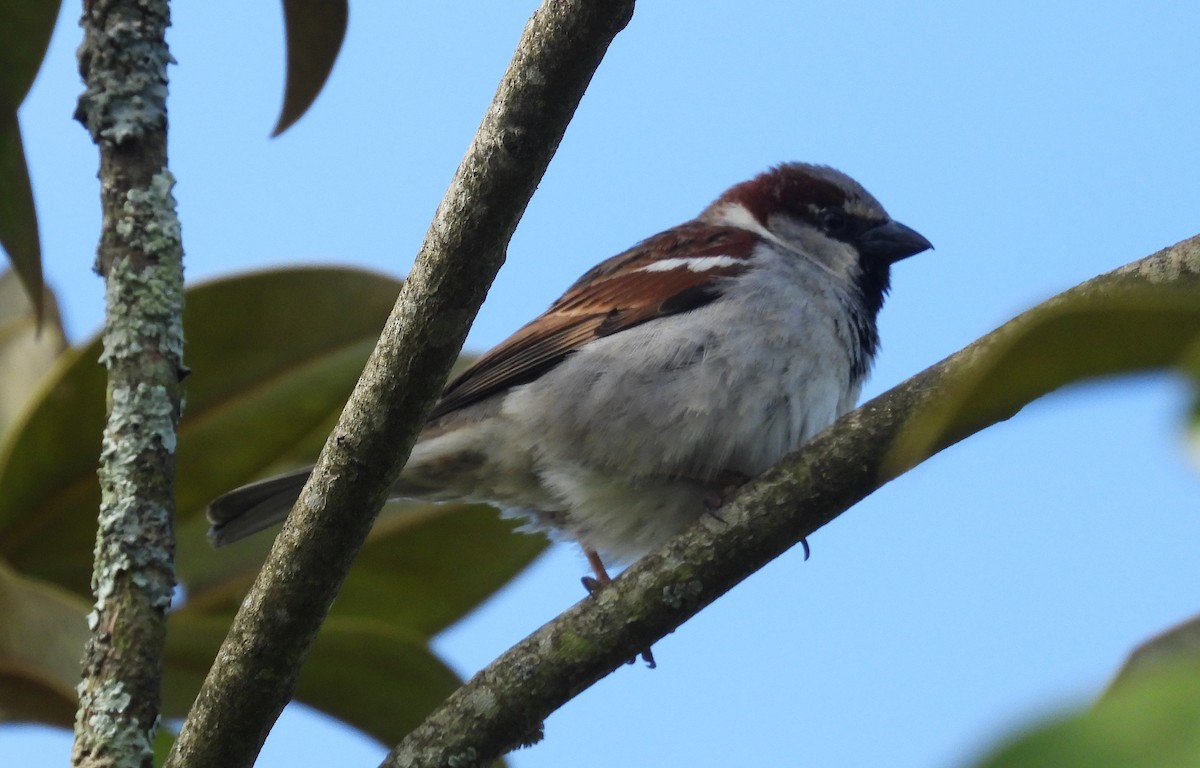
[(167, 170), (166, 0), (86, 0), (76, 116), (100, 148), (108, 422), (72, 762), (152, 766), (175, 587), (184, 251)]

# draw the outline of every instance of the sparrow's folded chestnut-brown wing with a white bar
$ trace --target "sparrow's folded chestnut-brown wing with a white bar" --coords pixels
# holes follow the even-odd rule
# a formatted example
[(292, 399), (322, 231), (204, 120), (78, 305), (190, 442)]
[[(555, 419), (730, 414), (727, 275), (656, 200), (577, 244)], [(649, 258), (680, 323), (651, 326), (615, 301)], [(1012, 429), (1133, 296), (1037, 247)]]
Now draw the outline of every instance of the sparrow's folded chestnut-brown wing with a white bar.
[[(708, 304), (721, 293), (722, 281), (714, 278), (748, 269), (756, 240), (744, 229), (689, 222), (602, 262), (450, 382), (430, 419), (532, 382), (594, 338)], [(728, 258), (704, 269), (682, 260), (702, 257)], [(674, 258), (680, 263), (672, 266)]]

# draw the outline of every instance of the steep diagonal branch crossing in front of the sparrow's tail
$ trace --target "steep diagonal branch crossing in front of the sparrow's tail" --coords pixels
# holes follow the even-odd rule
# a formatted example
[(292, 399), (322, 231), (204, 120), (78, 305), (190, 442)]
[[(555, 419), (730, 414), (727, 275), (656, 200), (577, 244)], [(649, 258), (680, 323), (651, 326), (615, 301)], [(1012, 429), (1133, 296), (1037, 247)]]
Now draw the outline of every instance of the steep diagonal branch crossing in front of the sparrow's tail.
[(546, 0), (529, 20), (379, 344), (238, 612), (168, 766), (253, 762), (295, 690), (300, 664), (521, 214), (632, 10), (632, 0)]

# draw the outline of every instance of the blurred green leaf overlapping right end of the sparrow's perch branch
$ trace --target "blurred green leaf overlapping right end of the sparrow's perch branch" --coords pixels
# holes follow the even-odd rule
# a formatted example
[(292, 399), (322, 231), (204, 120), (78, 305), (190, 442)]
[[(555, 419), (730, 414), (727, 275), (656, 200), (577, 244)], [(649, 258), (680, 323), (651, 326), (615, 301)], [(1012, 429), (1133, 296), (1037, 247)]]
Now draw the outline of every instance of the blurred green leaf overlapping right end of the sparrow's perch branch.
[(910, 418), (884, 472), (912, 467), (1067, 384), (1175, 368), (1198, 341), (1195, 287), (1140, 286), (1034, 308), (996, 331), (962, 374)]

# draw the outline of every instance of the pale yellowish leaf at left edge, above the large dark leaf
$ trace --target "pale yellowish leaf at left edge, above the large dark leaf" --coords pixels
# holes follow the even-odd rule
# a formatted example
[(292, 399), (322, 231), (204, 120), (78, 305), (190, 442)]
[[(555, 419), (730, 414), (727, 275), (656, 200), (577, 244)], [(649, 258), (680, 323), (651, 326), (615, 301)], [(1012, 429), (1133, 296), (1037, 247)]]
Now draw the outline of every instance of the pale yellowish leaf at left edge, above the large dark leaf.
[(58, 305), (46, 292), (49, 323), (37, 317), (13, 272), (0, 274), (0, 434), (24, 410), (37, 385), (66, 349)]

